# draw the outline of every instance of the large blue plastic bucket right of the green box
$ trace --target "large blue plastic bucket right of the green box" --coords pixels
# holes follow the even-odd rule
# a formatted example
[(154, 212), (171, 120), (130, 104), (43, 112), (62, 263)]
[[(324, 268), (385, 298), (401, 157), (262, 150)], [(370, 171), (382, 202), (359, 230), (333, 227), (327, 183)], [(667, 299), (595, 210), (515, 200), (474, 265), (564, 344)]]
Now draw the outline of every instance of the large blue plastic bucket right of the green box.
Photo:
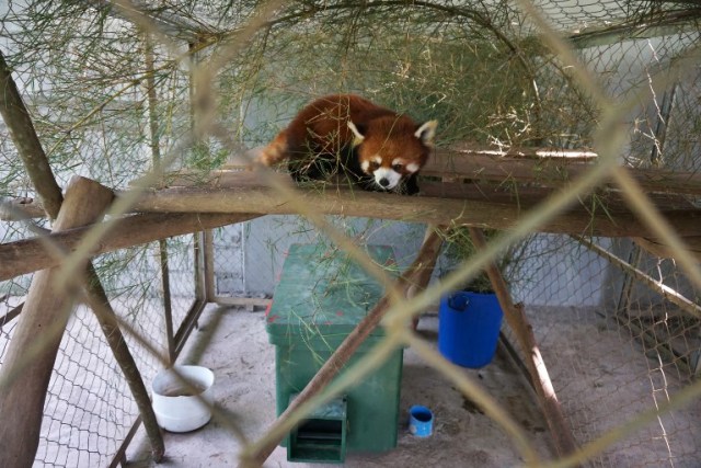
[(459, 292), (440, 300), (438, 350), (462, 367), (483, 367), (494, 357), (502, 328), (495, 294)]

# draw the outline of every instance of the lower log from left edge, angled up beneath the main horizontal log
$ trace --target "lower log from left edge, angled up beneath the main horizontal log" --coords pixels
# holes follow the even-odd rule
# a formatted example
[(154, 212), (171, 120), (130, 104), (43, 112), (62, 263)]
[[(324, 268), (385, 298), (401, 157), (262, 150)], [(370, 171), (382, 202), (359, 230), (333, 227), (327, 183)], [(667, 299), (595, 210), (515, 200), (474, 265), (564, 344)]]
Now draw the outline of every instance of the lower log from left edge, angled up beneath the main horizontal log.
[[(172, 236), (181, 236), (245, 221), (260, 215), (252, 214), (145, 214), (125, 217), (107, 233), (94, 255), (139, 246)], [(72, 252), (91, 226), (51, 232), (42, 238), (23, 239), (0, 244), (0, 281), (25, 273), (56, 266), (59, 259), (46, 250), (50, 242), (64, 252)]]

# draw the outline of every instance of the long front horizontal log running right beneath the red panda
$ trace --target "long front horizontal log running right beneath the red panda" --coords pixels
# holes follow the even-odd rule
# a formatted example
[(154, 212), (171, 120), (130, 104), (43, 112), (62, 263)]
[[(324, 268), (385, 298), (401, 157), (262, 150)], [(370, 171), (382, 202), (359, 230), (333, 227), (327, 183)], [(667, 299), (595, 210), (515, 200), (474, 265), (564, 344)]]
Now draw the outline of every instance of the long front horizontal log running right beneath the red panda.
[[(272, 190), (258, 174), (235, 172), (228, 175), (227, 186), (217, 184), (189, 187), (170, 187), (147, 191), (135, 205), (137, 212), (170, 213), (250, 213), (295, 214), (290, 198)], [(450, 226), (453, 224), (480, 228), (508, 230), (519, 222), (531, 202), (493, 203), (467, 199), (463, 184), (424, 183), (426, 196), (402, 196), (370, 193), (329, 185), (300, 192), (303, 203), (318, 213), (329, 215), (360, 216), (382, 219), (428, 222)], [(448, 187), (455, 187), (450, 191)], [(323, 192), (323, 193), (322, 193)], [(441, 197), (443, 195), (445, 197)], [(550, 219), (539, 230), (542, 232), (579, 233), (607, 237), (631, 237), (647, 232), (625, 207), (607, 209), (597, 206), (575, 206), (556, 218)], [(701, 233), (701, 210), (681, 209), (665, 213), (680, 236)]]

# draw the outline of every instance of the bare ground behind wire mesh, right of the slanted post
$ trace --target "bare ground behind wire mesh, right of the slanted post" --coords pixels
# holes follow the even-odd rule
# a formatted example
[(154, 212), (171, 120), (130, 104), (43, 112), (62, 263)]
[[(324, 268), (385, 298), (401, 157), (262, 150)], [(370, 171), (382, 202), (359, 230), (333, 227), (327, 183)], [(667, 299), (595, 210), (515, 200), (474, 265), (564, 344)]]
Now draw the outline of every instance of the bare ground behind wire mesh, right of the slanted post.
[[(594, 307), (532, 307), (529, 319), (579, 444), (666, 404), (697, 381)], [(610, 313), (610, 312), (609, 312)], [(658, 320), (664, 326), (664, 320)], [(693, 342), (689, 343), (693, 349)], [(590, 461), (593, 467), (701, 467), (701, 400), (655, 418)]]

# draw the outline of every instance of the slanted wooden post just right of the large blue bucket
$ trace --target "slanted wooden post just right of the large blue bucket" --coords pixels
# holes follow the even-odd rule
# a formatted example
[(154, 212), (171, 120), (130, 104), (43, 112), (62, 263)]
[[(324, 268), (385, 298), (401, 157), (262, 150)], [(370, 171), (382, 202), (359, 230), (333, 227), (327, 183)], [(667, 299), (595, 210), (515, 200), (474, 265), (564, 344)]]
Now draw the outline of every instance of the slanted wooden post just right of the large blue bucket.
[[(470, 228), (470, 237), (476, 249), (484, 249), (486, 247), (486, 241), (481, 229)], [(485, 271), (496, 293), (499, 306), (502, 306), (502, 310), (504, 311), (504, 318), (512, 330), (514, 330), (518, 344), (526, 357), (526, 366), (528, 367), (528, 373), (530, 374), (536, 393), (540, 400), (540, 406), (555, 443), (555, 448), (561, 457), (570, 455), (577, 449), (577, 444), (570, 429), (570, 424), (562, 412), (562, 408), (560, 408), (558, 396), (548, 375), (548, 368), (540, 355), (536, 336), (524, 312), (524, 306), (514, 304), (512, 295), (508, 292), (508, 286), (495, 263), (487, 265)]]

